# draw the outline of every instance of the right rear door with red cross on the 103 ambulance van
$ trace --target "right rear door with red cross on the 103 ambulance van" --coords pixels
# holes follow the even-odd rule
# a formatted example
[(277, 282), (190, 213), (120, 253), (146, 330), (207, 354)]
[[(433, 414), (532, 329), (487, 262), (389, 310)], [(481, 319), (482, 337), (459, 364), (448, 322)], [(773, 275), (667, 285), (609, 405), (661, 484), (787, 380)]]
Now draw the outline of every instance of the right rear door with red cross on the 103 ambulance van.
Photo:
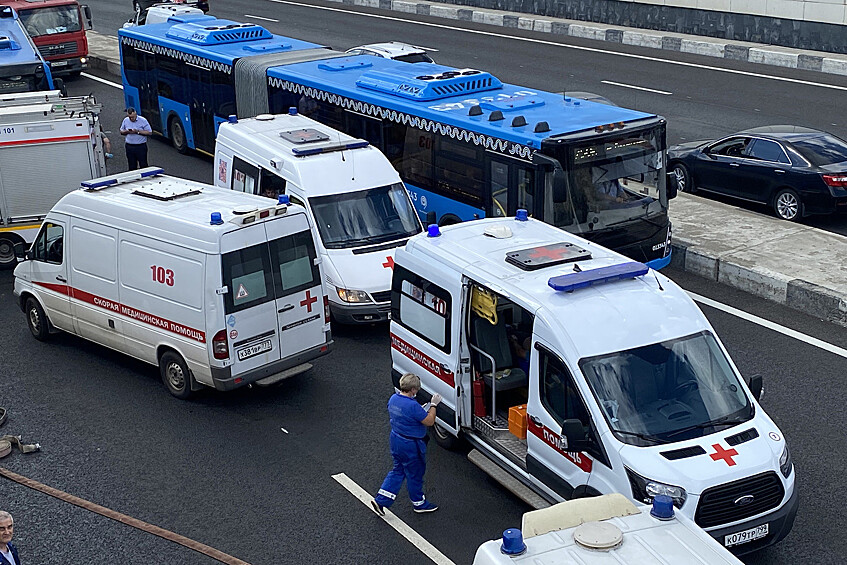
[(321, 270), (309, 221), (303, 213), (265, 223), (285, 359), (326, 343)]

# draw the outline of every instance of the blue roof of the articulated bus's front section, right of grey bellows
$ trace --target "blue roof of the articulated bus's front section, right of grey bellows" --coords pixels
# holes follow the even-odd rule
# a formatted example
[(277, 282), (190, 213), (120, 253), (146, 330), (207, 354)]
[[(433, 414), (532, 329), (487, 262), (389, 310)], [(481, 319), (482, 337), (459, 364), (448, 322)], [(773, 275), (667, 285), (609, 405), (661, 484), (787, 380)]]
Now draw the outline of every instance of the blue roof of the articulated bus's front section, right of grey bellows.
[[(268, 76), (534, 148), (550, 136), (656, 117), (587, 100), (566, 101), (561, 94), (502, 83), (484, 71), (371, 55), (279, 65), (268, 69)], [(482, 112), (469, 115), (477, 104)], [(497, 110), (503, 119), (491, 121)], [(513, 127), (518, 116), (526, 125)], [(549, 130), (536, 133), (539, 122)]]

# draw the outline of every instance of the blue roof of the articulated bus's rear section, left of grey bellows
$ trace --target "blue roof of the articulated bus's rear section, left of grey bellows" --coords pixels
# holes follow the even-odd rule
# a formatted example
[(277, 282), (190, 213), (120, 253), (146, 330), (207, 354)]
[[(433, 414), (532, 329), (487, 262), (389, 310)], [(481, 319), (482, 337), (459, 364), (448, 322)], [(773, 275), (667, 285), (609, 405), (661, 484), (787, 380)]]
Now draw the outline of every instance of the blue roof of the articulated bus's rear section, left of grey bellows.
[(250, 55), (323, 47), (317, 43), (274, 35), (259, 25), (200, 14), (172, 16), (165, 23), (120, 29), (118, 36), (178, 49), (227, 65)]

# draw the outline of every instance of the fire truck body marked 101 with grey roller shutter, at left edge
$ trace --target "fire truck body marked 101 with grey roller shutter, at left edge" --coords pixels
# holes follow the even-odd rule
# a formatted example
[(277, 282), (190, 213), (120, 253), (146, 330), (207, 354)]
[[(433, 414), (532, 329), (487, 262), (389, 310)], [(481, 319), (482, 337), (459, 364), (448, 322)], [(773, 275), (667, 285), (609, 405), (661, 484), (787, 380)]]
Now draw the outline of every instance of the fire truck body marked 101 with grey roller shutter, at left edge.
[(0, 269), (69, 189), (106, 174), (100, 110), (58, 90), (0, 95)]

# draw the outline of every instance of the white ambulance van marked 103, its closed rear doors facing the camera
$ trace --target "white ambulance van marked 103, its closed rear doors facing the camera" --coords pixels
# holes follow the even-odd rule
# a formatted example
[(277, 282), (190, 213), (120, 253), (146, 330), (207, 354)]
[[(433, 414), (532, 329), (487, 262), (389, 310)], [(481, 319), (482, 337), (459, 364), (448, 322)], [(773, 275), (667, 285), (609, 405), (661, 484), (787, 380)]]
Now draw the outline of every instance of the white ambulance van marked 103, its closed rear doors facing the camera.
[(158, 365), (179, 398), (308, 370), (332, 340), (305, 211), (162, 172), (84, 182), (47, 214), (15, 268), (32, 335)]

